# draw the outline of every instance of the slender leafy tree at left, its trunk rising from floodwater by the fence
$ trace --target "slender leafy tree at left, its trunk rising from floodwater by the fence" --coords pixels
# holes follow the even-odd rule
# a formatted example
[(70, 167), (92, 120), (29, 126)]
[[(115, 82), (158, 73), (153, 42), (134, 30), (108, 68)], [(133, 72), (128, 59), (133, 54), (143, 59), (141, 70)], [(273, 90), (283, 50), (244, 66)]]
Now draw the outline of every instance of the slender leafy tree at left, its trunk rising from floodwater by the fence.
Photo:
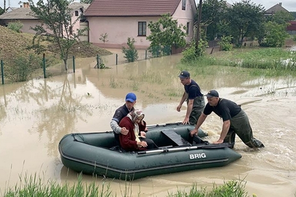
[[(72, 10), (69, 5), (73, 0), (38, 0), (36, 5), (33, 0), (29, 0), (32, 16), (41, 21), (32, 29), (36, 32), (33, 45), (37, 53), (52, 51), (60, 53), (64, 62), (65, 70), (68, 70), (67, 59), (70, 48), (77, 42), (84, 30), (73, 30), (74, 24), (79, 20), (72, 21)], [(44, 45), (43, 41), (52, 44), (52, 47)], [(58, 48), (58, 49), (57, 49)]]

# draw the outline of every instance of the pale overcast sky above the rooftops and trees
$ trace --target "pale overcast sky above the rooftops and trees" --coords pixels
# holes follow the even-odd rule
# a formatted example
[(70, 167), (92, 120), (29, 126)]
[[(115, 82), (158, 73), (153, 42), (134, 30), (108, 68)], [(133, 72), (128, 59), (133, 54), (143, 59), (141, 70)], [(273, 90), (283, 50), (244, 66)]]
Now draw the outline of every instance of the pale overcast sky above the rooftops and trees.
[[(6, 7), (8, 7), (8, 1), (6, 0)], [(10, 0), (10, 6), (11, 7), (19, 7), (18, 4), (20, 0)], [(25, 1), (25, 0), (22, 0)], [(78, 0), (76, 0), (78, 1)], [(227, 0), (228, 3), (233, 4), (235, 2), (238, 2), (240, 0)], [(282, 2), (282, 6), (286, 8), (288, 11), (296, 11), (296, 0), (251, 0), (256, 4), (261, 4), (263, 7), (265, 7), (265, 10), (272, 7), (273, 5)], [(34, 0), (34, 2), (37, 2), (37, 0)], [(196, 3), (199, 2), (199, 0), (195, 0)], [(0, 0), (0, 6), (3, 7), (3, 0)]]

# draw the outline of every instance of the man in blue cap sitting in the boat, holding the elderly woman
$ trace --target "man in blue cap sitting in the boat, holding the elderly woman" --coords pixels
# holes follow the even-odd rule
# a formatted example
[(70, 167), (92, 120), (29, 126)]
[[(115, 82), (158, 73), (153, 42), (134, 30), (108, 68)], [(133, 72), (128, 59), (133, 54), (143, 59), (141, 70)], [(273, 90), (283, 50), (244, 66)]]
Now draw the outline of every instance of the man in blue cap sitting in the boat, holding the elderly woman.
[(134, 93), (128, 93), (125, 96), (125, 103), (118, 109), (116, 109), (113, 118), (110, 122), (110, 126), (114, 132), (115, 140), (119, 145), (119, 133), (126, 135), (128, 130), (123, 127), (119, 127), (119, 122), (123, 119), (128, 113), (134, 110), (134, 105), (136, 104), (137, 97)]

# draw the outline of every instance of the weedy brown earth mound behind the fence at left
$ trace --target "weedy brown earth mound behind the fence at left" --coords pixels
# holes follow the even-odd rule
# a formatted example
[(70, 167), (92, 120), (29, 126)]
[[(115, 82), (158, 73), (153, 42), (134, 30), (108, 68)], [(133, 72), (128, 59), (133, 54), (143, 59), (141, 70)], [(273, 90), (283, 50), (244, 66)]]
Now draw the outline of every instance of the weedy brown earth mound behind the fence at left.
[[(28, 80), (36, 76), (35, 71), (42, 67), (43, 54), (36, 54), (33, 50), (28, 50), (33, 37), (33, 34), (16, 33), (0, 26), (0, 60), (4, 63), (5, 83)], [(47, 47), (52, 47), (55, 51), (58, 50), (54, 49), (55, 45), (48, 45), (48, 43)], [(95, 57), (97, 54), (102, 56), (111, 54), (111, 52), (88, 42), (76, 42), (69, 50), (70, 57), (75, 56), (75, 58)], [(46, 67), (60, 63), (59, 54), (46, 52), (45, 58)]]

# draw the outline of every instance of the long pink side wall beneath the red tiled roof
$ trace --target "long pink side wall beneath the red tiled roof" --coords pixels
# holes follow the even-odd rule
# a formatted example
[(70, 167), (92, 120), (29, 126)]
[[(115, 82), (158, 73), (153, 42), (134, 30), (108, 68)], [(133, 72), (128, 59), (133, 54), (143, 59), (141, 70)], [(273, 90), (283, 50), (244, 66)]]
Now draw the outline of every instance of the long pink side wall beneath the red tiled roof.
[[(126, 45), (128, 37), (135, 38), (138, 49), (146, 49), (150, 42), (146, 36), (138, 36), (138, 22), (146, 22), (147, 35), (149, 21), (157, 21), (158, 17), (87, 17), (89, 23), (89, 41), (101, 47), (121, 48)], [(103, 43), (101, 34), (108, 34), (108, 42)]]

